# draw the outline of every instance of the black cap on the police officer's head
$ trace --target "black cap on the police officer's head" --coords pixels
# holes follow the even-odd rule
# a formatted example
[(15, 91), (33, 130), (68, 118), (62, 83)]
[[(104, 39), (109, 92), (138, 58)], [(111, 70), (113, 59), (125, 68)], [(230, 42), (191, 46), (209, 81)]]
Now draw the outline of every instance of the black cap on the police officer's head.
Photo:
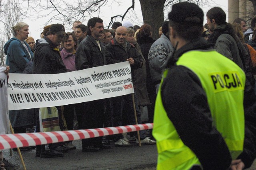
[(194, 3), (180, 2), (178, 4), (174, 4), (172, 6), (172, 11), (168, 14), (170, 21), (180, 24), (187, 23), (188, 21), (186, 19), (188, 17), (197, 17), (200, 19), (199, 22), (190, 20), (190, 25), (203, 25), (204, 12)]

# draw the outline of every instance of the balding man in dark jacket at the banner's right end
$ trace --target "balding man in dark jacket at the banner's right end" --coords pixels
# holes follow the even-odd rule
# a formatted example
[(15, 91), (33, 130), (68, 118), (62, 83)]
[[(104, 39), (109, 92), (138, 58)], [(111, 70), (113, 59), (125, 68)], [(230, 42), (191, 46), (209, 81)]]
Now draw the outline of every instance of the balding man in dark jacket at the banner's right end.
[[(135, 46), (126, 41), (127, 29), (126, 27), (118, 27), (116, 29), (115, 38), (104, 47), (104, 57), (108, 64), (120, 63), (124, 61), (129, 61), (132, 69), (136, 70), (142, 66), (142, 56), (136, 50)], [(134, 95), (135, 107), (137, 112), (138, 123), (141, 124), (140, 111), (138, 108), (138, 103), (136, 100), (136, 95)], [(132, 95), (127, 94), (124, 96), (118, 96), (110, 99), (110, 109), (112, 113), (112, 126), (122, 126), (124, 125), (123, 115), (127, 116), (128, 123), (130, 125), (135, 124), (134, 109), (132, 104)], [(114, 136), (114, 141), (116, 146), (130, 146), (129, 141), (123, 139), (121, 134)], [(141, 143), (144, 145), (155, 144), (153, 141), (145, 136), (145, 131), (140, 131)], [(134, 137), (135, 139), (135, 137)], [(137, 140), (138, 143), (138, 140)]]

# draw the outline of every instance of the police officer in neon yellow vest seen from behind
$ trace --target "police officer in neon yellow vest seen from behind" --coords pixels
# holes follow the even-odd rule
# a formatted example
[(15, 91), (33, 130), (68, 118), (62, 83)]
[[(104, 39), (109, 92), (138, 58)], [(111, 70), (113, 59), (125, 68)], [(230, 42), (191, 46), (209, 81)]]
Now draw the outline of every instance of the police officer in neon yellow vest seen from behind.
[(155, 104), (157, 169), (250, 167), (256, 154), (256, 99), (244, 71), (201, 37), (204, 13), (196, 4), (174, 4), (168, 18), (175, 51)]

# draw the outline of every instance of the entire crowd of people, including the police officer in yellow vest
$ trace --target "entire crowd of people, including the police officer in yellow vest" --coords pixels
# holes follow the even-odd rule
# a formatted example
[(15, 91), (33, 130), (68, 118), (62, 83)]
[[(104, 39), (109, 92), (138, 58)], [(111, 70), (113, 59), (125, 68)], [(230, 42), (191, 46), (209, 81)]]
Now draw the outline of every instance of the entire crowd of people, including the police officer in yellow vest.
[[(47, 25), (36, 41), (20, 22), (4, 46), (6, 64), (10, 73), (58, 74), (128, 61), (135, 93), (56, 106), (60, 130), (73, 130), (74, 117), (77, 129), (154, 120), (153, 132), (139, 135), (142, 145), (157, 144), (158, 169), (242, 170), (256, 157), (256, 16), (250, 29), (241, 18), (227, 23), (219, 7), (207, 12), (204, 26), (203, 17), (196, 4), (181, 2), (159, 30), (130, 21), (104, 29), (94, 17), (87, 25), (75, 21), (73, 32)], [(157, 40), (153, 31), (159, 31)], [(14, 132), (34, 125), (42, 131), (38, 111), (10, 111)], [(82, 152), (109, 149), (109, 141), (120, 147), (139, 143), (137, 133), (82, 139)], [(36, 157), (61, 157), (69, 149), (76, 149), (72, 141), (36, 146)], [(8, 166), (0, 164), (0, 170)]]

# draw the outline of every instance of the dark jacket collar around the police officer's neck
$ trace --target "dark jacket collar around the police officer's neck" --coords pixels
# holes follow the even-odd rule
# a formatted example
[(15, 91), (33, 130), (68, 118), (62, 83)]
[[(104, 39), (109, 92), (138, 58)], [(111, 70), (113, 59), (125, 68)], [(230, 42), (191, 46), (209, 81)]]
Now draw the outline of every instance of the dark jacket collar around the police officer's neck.
[(212, 44), (206, 41), (203, 37), (200, 37), (198, 39), (188, 42), (186, 45), (184, 45), (177, 51), (176, 49), (174, 49), (174, 53), (172, 57), (170, 57), (170, 59), (168, 60), (166, 68), (170, 68), (170, 66), (175, 65), (180, 56), (192, 50), (212, 50)]

